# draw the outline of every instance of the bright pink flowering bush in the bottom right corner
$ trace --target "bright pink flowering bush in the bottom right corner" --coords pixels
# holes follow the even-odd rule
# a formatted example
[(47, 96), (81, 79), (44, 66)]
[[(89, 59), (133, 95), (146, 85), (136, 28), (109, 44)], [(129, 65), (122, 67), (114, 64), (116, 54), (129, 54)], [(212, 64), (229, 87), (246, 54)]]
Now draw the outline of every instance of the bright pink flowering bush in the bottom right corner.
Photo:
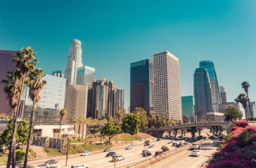
[(220, 151), (214, 153), (207, 168), (256, 167), (256, 127), (236, 123)]

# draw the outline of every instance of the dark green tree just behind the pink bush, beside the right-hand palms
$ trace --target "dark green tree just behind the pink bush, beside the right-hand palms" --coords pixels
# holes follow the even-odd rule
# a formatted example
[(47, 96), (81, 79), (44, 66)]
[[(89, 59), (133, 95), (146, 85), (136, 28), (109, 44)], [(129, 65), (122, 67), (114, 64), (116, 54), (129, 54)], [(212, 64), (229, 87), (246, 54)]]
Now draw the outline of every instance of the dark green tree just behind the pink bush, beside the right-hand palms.
[(235, 106), (229, 106), (224, 113), (224, 120), (231, 121), (231, 123), (235, 124), (236, 120), (240, 120), (242, 116), (243, 113), (241, 113)]

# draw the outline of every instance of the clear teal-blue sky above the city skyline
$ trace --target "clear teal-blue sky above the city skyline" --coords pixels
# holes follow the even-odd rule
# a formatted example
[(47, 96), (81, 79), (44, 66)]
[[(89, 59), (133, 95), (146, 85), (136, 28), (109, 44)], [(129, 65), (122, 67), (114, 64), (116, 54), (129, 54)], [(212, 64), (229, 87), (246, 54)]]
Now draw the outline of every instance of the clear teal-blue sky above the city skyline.
[(193, 95), (200, 60), (215, 63), (229, 101), (248, 80), (256, 100), (254, 0), (2, 0), (0, 50), (31, 46), (45, 73), (65, 71), (70, 41), (82, 41), (82, 62), (96, 78), (124, 89), (129, 106), (129, 64), (169, 50), (180, 61), (181, 94)]

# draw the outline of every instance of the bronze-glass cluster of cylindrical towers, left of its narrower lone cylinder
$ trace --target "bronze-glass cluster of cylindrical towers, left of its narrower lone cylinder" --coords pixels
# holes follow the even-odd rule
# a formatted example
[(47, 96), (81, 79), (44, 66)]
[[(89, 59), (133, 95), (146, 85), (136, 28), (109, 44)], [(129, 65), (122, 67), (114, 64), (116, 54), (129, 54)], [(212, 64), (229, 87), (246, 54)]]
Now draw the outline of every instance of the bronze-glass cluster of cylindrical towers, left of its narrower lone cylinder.
[(89, 116), (102, 119), (106, 116), (113, 116), (113, 80), (94, 80), (92, 89), (89, 90)]

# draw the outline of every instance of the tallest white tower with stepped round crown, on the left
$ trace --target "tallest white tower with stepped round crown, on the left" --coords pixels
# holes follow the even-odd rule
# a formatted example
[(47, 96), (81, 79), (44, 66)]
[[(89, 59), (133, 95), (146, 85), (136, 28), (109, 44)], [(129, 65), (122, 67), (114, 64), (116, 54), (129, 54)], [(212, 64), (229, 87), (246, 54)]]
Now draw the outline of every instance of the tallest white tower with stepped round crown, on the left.
[(80, 66), (83, 66), (81, 41), (75, 39), (71, 41), (68, 62), (65, 69), (65, 78), (67, 78), (67, 83), (69, 85), (76, 86), (77, 68)]

